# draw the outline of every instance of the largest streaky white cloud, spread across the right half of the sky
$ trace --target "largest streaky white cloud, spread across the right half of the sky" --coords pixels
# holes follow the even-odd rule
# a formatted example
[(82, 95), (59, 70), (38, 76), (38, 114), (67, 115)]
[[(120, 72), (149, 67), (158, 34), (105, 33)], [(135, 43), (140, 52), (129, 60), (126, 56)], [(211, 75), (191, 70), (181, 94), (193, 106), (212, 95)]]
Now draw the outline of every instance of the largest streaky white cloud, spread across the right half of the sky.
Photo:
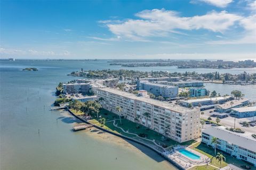
[(145, 40), (145, 37), (164, 37), (170, 33), (182, 34), (179, 30), (206, 29), (223, 33), (241, 20), (242, 17), (226, 11), (209, 12), (194, 17), (179, 17), (175, 11), (165, 9), (144, 10), (135, 14), (140, 19), (129, 19), (122, 23), (107, 23), (109, 30), (121, 38), (133, 41)]

